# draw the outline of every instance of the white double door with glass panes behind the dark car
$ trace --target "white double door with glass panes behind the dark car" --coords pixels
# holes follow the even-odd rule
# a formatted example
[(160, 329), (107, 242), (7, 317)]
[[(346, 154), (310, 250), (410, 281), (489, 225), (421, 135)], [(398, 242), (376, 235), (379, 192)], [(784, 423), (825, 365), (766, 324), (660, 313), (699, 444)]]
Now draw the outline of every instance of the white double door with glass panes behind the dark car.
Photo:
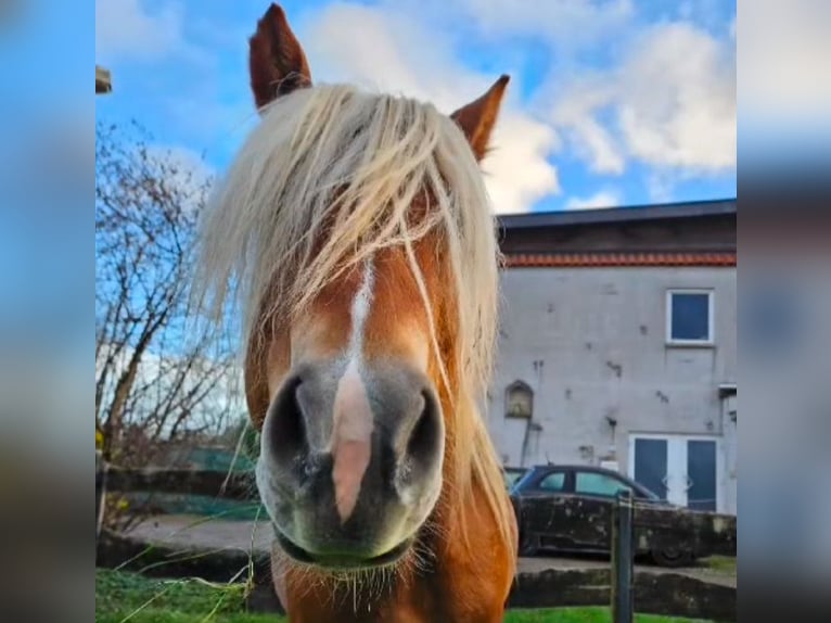
[(663, 499), (694, 510), (718, 510), (718, 438), (632, 434), (629, 475)]

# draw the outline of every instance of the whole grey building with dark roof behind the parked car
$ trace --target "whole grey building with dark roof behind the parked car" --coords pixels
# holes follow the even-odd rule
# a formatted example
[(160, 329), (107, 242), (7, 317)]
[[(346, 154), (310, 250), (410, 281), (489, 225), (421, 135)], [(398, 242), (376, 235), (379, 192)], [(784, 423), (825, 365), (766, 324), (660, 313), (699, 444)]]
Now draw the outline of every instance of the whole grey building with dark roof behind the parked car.
[(500, 221), (503, 463), (606, 466), (734, 513), (736, 201)]

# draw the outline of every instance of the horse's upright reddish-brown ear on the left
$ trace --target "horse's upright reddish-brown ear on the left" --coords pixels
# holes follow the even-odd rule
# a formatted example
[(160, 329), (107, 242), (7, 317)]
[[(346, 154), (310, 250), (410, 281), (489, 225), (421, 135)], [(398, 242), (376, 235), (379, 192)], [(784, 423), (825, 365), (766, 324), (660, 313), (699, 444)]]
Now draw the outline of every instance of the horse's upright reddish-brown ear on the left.
[(306, 54), (278, 4), (268, 8), (248, 39), (248, 71), (257, 109), (311, 85)]

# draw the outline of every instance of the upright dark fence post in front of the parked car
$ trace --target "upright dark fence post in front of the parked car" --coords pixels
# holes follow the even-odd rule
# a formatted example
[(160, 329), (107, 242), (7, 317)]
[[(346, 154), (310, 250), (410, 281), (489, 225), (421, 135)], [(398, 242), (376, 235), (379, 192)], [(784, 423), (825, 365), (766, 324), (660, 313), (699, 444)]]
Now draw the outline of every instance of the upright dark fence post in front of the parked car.
[(632, 623), (632, 499), (621, 491), (612, 513), (612, 621)]

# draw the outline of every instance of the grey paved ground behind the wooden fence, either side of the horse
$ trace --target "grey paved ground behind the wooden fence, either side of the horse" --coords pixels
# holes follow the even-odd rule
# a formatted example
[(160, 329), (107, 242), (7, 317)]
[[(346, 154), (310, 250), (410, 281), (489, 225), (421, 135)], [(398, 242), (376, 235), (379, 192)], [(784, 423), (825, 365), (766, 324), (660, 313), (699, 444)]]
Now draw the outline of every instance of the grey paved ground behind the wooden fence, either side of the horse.
[[(158, 516), (137, 525), (130, 536), (142, 541), (164, 543), (176, 547), (201, 547), (207, 549), (242, 549), (268, 551), (271, 546), (271, 527), (266, 522), (221, 521), (204, 517)], [(597, 569), (609, 567), (603, 558), (521, 558), (520, 571), (534, 572), (545, 569)], [(636, 569), (650, 573), (682, 573), (709, 582), (736, 586), (734, 569), (713, 569), (704, 564), (685, 569), (666, 570), (649, 564)]]

